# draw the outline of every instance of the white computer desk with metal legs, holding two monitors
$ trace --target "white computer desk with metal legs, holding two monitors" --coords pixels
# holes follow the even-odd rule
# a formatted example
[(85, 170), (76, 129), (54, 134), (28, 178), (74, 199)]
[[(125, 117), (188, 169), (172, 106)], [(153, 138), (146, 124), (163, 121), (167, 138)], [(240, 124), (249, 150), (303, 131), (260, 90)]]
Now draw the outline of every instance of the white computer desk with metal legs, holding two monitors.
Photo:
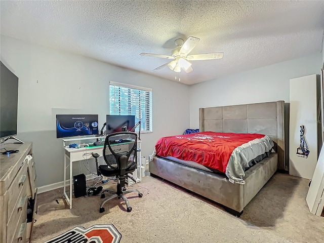
[[(67, 200), (67, 203), (69, 204), (69, 209), (72, 209), (72, 165), (73, 162), (75, 161), (80, 161), (80, 160), (86, 160), (93, 158), (92, 153), (98, 153), (100, 156), (103, 156), (103, 147), (104, 145), (100, 146), (89, 146), (89, 147), (80, 147), (80, 148), (70, 148), (65, 145), (66, 141), (73, 141), (73, 140), (91, 140), (91, 139), (97, 139), (101, 137), (89, 137), (89, 138), (82, 138), (82, 139), (63, 139), (63, 146), (64, 146), (64, 178), (63, 178), (63, 196)], [(118, 152), (126, 152), (128, 151), (128, 142), (126, 143), (117, 143), (113, 144), (111, 146), (114, 147), (115, 150), (118, 149)], [(138, 156), (137, 156), (137, 161), (138, 161), (138, 168), (137, 171), (134, 172), (134, 174), (137, 174), (136, 182), (140, 182), (142, 179), (142, 173), (141, 173), (141, 140), (137, 140), (138, 144)], [(111, 154), (109, 148), (106, 148), (106, 154)], [(69, 162), (69, 165), (67, 164), (67, 161)], [(66, 193), (66, 169), (70, 168), (70, 178), (69, 178), (69, 196)], [(139, 173), (138, 173), (139, 170)], [(133, 174), (133, 176), (134, 176)]]

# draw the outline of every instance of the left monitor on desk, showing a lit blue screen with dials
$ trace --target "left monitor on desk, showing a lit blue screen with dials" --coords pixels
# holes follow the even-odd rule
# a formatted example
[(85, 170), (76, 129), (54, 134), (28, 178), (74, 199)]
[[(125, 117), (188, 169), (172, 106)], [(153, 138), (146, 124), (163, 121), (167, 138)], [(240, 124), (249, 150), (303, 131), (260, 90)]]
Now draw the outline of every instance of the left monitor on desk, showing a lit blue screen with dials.
[(98, 134), (98, 115), (56, 115), (56, 137)]

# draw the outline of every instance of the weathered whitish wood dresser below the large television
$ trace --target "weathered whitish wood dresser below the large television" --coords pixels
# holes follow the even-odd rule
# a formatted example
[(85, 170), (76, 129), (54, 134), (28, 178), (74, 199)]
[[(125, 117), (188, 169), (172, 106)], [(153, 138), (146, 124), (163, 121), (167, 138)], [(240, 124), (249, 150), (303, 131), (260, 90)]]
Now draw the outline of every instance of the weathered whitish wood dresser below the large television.
[(0, 154), (0, 242), (29, 242), (37, 212), (32, 143), (2, 147), (19, 152)]

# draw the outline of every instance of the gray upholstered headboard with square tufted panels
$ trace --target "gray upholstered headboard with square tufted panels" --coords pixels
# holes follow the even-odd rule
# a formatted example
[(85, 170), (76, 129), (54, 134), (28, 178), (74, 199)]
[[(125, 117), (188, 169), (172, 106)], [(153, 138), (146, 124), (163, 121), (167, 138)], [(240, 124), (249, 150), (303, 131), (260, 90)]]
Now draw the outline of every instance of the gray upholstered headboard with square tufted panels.
[(199, 108), (199, 131), (268, 135), (278, 153), (278, 169), (285, 170), (285, 102), (266, 102)]

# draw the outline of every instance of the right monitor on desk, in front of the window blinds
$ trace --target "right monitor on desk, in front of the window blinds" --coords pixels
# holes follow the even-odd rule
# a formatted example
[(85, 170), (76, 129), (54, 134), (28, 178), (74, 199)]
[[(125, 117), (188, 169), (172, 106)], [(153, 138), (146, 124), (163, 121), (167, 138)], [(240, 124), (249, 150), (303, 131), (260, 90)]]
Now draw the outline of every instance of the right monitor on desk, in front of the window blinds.
[(127, 127), (131, 131), (135, 126), (135, 115), (107, 115), (106, 134), (123, 131), (121, 128)]

